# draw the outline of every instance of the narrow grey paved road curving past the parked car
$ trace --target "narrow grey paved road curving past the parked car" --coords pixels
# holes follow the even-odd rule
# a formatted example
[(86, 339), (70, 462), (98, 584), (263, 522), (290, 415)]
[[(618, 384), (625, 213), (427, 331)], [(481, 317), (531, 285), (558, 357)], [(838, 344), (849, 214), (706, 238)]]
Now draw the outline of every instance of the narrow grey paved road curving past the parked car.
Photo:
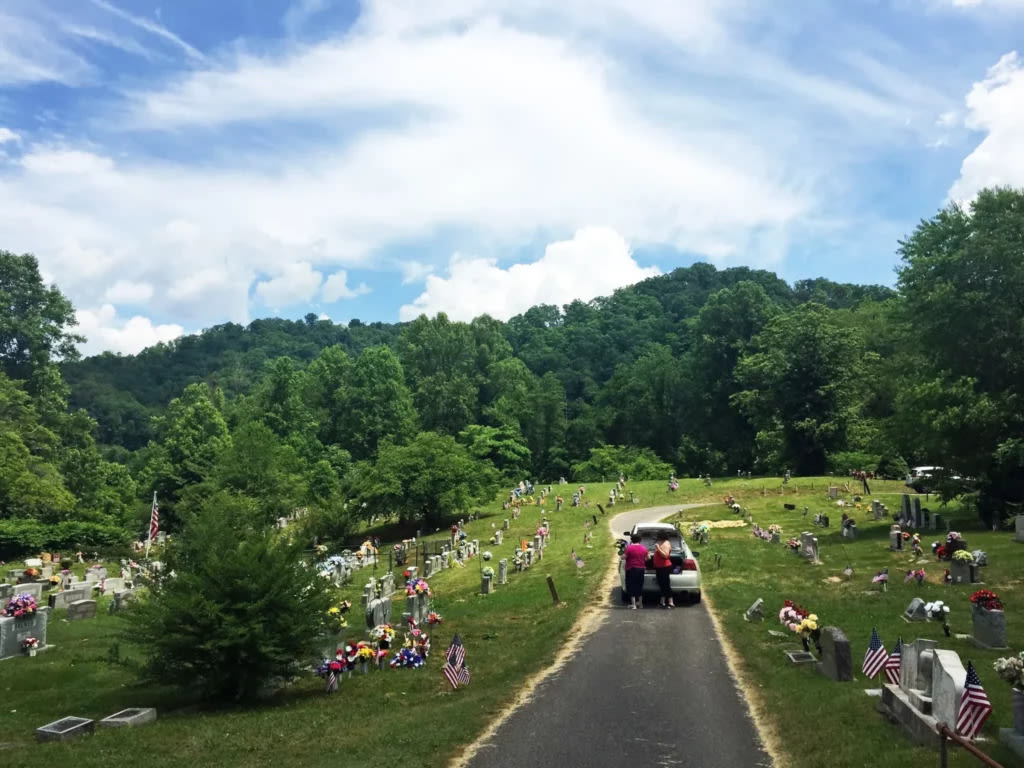
[[(695, 506), (695, 505), (693, 505)], [(617, 536), (680, 506), (615, 515)], [(470, 768), (770, 766), (711, 617), (622, 605), (616, 587), (601, 627), (498, 729)]]

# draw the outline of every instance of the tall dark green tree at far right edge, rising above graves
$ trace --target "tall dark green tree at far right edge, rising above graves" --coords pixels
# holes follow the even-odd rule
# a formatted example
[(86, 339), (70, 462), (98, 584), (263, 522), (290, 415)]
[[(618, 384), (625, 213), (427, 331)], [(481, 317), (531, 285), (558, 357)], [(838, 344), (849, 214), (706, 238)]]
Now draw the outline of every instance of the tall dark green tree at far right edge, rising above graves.
[[(923, 365), (894, 423), (908, 454), (979, 481), (986, 522), (1024, 501), (1024, 189), (983, 189), (900, 244)], [(914, 444), (915, 443), (915, 444)]]

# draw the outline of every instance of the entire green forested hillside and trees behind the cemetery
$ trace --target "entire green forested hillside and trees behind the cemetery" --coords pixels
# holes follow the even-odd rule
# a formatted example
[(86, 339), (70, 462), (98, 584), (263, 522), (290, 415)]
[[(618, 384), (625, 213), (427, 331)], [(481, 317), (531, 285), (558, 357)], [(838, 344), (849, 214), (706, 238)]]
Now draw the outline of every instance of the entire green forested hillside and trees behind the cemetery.
[(1024, 193), (987, 190), (899, 244), (896, 291), (695, 264), (508, 323), (309, 314), (84, 360), (71, 305), (2, 253), (0, 525), (131, 528), (156, 489), (172, 521), (231, 494), (340, 537), (439, 522), (499, 476), (908, 463), (1000, 516), (1024, 495), (1022, 232)]

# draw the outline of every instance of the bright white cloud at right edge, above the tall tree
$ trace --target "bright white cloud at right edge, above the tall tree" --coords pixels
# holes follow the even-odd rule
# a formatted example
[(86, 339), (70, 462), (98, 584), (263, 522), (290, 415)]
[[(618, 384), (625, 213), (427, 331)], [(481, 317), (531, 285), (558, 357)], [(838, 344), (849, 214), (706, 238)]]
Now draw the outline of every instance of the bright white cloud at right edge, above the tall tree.
[(1024, 61), (1007, 53), (967, 96), (967, 126), (985, 138), (961, 166), (950, 200), (965, 203), (986, 186), (1024, 186)]

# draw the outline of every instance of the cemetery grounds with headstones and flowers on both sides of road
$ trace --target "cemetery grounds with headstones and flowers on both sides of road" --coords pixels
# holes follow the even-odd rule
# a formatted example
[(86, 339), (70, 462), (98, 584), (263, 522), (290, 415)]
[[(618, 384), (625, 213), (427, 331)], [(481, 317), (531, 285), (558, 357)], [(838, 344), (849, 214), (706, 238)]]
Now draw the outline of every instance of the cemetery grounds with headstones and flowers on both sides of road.
[[(831, 765), (934, 764), (934, 723), (955, 714), (969, 662), (993, 707), (979, 745), (1005, 766), (1024, 760), (1012, 745), (1022, 737), (1016, 694), (993, 667), (1024, 647), (1019, 523), (982, 530), (934, 497), (904, 502), (897, 482), (876, 481), (876, 497), (858, 501), (827, 478), (677, 483), (670, 492), (630, 482), (615, 511), (631, 497), (644, 506), (707, 504), (669, 520), (701, 550), (708, 602), (756, 717), (781, 737), (773, 745), (780, 764), (820, 765), (825, 754)], [(0, 740), (17, 748), (2, 753), (4, 764), (100, 766), (145, 752), (183, 764), (215, 750), (218, 764), (248, 765), (258, 749), (261, 761), (285, 766), (336, 764), (339, 754), (364, 764), (381, 750), (398, 762), (446, 765), (530, 672), (550, 664), (580, 611), (606, 600), (598, 588), (614, 553), (606, 524), (614, 512), (605, 496), (589, 498), (588, 488), (579, 505), (557, 511), (495, 504), (455, 534), (406, 540), (404, 559), (392, 558), (390, 568), (386, 556), (355, 558), (351, 546), (310, 552), (338, 606), (334, 631), (319, 642), (322, 655), (305, 659), (304, 675), (251, 708), (206, 709), (140, 682), (123, 622), (146, 599), (143, 574), (120, 583), (109, 575), (116, 559), (100, 568), (76, 563), (36, 601), (31, 631), (45, 650), (30, 656), (19, 646), (27, 625), (4, 629), (25, 617), (0, 620), (0, 637), (14, 638), (3, 641), (0, 680), (16, 701)], [(855, 538), (840, 524), (844, 515)], [(971, 561), (959, 558), (968, 567), (956, 579), (959, 552)], [(24, 586), (17, 578), (8, 572), (5, 604)], [(100, 591), (100, 582), (114, 588)], [(453, 691), (440, 668), (456, 632), (473, 683)], [(872, 632), (887, 652), (901, 640), (895, 682), (863, 674)], [(411, 712), (421, 723), (416, 739), (379, 735), (382, 718), (398, 723)], [(957, 752), (950, 764), (970, 760)]]

